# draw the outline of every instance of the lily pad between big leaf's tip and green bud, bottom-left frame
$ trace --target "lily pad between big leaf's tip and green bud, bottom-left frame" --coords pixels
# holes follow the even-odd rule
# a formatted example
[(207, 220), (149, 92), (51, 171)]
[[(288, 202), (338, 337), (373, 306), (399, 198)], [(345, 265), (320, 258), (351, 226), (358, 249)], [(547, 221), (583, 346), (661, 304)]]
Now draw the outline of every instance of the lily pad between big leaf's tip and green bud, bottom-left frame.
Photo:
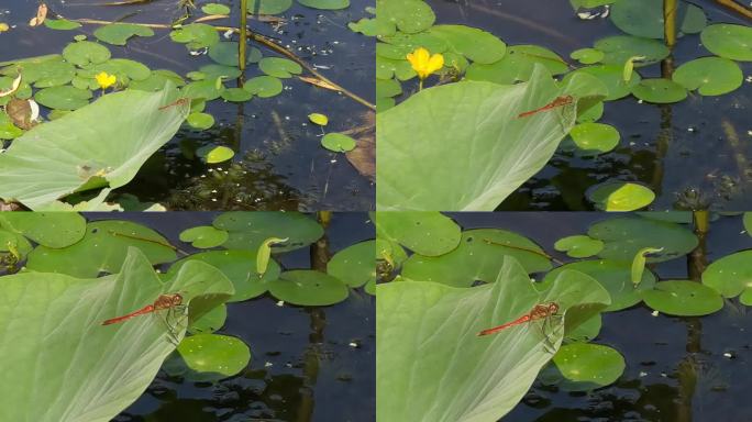
[(269, 259), (266, 273), (259, 277), (256, 270), (256, 253), (254, 251), (208, 251), (189, 255), (169, 267), (168, 275), (180, 269), (186, 263), (200, 260), (224, 274), (234, 286), (235, 293), (229, 302), (241, 302), (259, 297), (268, 289), (268, 282), (279, 277), (279, 264)]

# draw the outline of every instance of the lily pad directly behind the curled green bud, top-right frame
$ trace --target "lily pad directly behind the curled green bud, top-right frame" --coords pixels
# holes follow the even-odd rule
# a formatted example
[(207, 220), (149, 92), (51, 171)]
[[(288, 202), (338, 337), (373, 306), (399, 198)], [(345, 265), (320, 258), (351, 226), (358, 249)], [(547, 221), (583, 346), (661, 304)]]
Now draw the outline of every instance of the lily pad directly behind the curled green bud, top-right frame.
[(596, 41), (594, 46), (604, 53), (605, 65), (623, 66), (631, 57), (643, 57), (634, 62), (635, 67), (646, 66), (668, 57), (671, 51), (660, 41), (639, 36), (616, 35)]

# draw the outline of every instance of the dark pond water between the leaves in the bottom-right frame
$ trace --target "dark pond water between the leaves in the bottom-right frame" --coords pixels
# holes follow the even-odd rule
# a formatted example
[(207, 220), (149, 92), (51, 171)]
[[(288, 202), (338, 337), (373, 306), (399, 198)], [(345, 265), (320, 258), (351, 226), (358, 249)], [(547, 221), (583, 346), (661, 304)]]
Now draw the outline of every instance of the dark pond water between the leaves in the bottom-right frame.
[[(451, 214), (463, 229), (498, 227), (530, 237), (548, 253), (556, 240), (587, 232), (599, 213)], [(708, 263), (750, 248), (741, 216), (711, 223), (706, 238)], [(686, 279), (693, 258), (660, 264), (660, 279)], [(602, 314), (593, 341), (618, 349), (627, 368), (611, 386), (590, 392), (566, 392), (535, 382), (504, 421), (747, 421), (752, 414), (752, 314), (737, 300), (703, 318), (652, 316), (644, 304)]]

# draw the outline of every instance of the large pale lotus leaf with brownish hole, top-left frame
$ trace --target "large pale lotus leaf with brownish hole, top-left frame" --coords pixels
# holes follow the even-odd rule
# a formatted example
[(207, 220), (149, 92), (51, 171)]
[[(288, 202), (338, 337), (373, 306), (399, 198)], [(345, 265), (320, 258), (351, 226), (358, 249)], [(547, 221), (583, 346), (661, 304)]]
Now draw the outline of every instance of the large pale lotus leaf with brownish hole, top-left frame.
[(38, 210), (76, 191), (128, 184), (188, 115), (187, 104), (161, 109), (174, 98), (173, 88), (115, 92), (35, 126), (0, 154), (0, 197)]

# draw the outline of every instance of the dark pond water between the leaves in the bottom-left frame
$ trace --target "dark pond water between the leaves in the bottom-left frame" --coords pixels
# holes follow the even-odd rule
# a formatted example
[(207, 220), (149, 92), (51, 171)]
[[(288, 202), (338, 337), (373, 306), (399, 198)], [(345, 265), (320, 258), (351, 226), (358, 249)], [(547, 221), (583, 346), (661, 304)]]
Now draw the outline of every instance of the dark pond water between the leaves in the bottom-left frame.
[[(119, 219), (179, 242), (186, 227), (211, 224), (213, 213), (125, 213)], [(112, 219), (89, 213), (90, 221)], [(330, 253), (374, 238), (365, 213), (336, 213), (327, 230)], [(285, 269), (311, 268), (311, 251), (286, 253)], [(360, 291), (330, 307), (277, 306), (268, 295), (228, 303), (218, 333), (251, 347), (240, 375), (215, 384), (187, 382), (159, 373), (142, 397), (114, 421), (369, 421), (376, 414), (375, 300)]]

